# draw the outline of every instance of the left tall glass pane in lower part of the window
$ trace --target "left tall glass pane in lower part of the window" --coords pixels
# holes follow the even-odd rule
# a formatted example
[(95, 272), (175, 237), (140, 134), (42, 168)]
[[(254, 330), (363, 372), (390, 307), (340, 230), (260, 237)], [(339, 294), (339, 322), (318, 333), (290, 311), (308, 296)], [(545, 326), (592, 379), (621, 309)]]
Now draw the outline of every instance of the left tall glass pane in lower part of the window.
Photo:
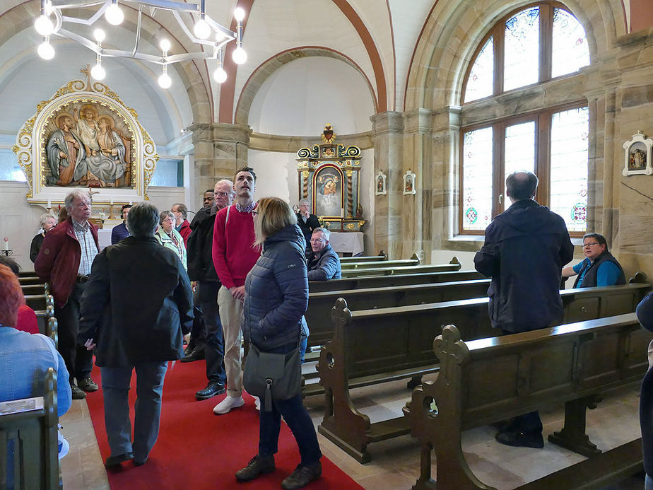
[(485, 230), (492, 221), (492, 128), (466, 132), (463, 142), (462, 222)]

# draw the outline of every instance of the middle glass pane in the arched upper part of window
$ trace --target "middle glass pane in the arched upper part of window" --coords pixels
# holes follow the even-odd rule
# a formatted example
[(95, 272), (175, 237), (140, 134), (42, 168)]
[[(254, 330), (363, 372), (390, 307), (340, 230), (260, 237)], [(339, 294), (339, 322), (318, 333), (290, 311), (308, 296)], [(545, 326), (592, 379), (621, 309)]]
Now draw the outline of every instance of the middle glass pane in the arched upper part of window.
[(504, 91), (539, 79), (539, 12), (539, 7), (528, 8), (505, 23)]

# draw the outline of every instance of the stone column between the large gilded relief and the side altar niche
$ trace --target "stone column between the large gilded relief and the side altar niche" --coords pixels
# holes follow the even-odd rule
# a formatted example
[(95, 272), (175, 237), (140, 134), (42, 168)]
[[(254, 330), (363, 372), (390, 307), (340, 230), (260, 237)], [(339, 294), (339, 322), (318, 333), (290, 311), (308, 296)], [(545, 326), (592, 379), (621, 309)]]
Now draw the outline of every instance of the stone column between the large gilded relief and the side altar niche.
[(194, 184), (196, 196), (192, 202), (201, 206), (201, 194), (224, 178), (233, 180), (237, 168), (247, 165), (247, 148), (252, 129), (242, 124), (193, 124), (195, 148)]

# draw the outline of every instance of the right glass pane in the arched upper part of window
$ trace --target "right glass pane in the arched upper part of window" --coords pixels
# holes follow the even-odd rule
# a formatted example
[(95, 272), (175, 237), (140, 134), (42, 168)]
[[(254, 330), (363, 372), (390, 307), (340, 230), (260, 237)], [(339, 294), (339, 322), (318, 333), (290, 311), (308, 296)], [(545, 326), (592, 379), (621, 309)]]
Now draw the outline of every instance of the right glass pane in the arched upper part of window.
[(578, 71), (589, 64), (589, 46), (580, 22), (562, 8), (553, 9), (551, 76)]

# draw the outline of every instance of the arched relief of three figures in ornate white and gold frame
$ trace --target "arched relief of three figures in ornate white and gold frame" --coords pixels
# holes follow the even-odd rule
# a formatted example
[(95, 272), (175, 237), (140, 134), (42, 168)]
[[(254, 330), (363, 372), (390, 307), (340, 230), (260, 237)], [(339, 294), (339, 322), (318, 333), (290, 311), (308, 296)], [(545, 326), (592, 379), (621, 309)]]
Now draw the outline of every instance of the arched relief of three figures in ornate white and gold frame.
[(134, 109), (103, 83), (81, 70), (37, 105), (16, 136), (18, 157), (30, 192), (28, 201), (63, 203), (71, 187), (102, 189), (95, 200), (127, 204), (147, 199), (158, 155)]

